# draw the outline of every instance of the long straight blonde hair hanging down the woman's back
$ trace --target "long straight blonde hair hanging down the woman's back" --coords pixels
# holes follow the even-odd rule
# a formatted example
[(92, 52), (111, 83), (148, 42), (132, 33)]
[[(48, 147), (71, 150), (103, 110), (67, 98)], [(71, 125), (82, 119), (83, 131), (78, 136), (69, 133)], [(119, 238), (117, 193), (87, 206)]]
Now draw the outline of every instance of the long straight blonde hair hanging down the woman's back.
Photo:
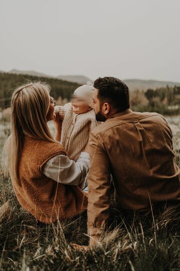
[(12, 94), (11, 133), (5, 148), (8, 150), (8, 169), (17, 185), (20, 185), (18, 163), (24, 144), (24, 135), (37, 140), (56, 142), (46, 122), (50, 106), (49, 91), (50, 87), (45, 83), (30, 82), (18, 87)]

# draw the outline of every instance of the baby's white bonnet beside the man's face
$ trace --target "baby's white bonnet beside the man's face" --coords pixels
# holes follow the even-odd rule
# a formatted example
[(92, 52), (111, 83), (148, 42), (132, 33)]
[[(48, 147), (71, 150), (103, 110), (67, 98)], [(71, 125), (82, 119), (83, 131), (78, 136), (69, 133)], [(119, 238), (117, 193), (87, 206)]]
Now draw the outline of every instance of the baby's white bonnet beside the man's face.
[(94, 92), (94, 87), (90, 81), (87, 81), (86, 85), (77, 87), (74, 90), (73, 97), (82, 98), (87, 102), (88, 106), (92, 106), (92, 95)]

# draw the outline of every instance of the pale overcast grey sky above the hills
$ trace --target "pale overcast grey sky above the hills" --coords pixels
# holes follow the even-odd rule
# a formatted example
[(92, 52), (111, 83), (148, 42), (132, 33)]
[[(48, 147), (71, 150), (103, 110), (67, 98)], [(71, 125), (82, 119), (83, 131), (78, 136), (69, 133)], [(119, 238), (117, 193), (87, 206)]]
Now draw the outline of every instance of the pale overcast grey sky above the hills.
[(179, 0), (0, 0), (0, 70), (180, 82)]

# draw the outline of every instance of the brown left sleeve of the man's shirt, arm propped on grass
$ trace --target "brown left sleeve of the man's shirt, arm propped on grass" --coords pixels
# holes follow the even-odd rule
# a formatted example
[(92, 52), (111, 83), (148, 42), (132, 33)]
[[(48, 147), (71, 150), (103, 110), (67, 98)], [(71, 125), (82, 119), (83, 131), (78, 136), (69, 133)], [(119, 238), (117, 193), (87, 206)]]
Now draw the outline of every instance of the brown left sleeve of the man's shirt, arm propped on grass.
[(90, 133), (87, 233), (97, 236), (109, 217), (110, 161), (99, 135)]

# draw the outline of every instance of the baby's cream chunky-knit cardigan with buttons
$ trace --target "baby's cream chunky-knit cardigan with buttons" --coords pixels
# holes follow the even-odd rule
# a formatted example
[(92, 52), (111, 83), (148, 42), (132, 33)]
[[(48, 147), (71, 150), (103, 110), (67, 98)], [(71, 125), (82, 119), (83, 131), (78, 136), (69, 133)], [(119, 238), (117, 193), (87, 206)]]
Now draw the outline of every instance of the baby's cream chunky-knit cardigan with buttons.
[(71, 103), (65, 104), (63, 109), (64, 119), (60, 143), (65, 148), (69, 159), (77, 161), (88, 142), (90, 131), (101, 122), (96, 121), (93, 109), (86, 113), (76, 114), (72, 111)]

